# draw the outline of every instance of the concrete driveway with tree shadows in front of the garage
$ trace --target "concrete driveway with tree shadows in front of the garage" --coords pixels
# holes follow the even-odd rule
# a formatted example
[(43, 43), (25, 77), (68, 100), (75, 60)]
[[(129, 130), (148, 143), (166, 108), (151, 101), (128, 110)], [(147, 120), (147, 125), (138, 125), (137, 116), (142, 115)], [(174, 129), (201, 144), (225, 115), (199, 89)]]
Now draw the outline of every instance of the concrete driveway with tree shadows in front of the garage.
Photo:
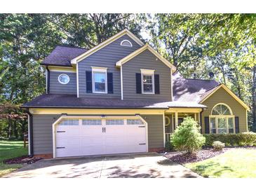
[(5, 177), (200, 177), (157, 153), (40, 160)]

